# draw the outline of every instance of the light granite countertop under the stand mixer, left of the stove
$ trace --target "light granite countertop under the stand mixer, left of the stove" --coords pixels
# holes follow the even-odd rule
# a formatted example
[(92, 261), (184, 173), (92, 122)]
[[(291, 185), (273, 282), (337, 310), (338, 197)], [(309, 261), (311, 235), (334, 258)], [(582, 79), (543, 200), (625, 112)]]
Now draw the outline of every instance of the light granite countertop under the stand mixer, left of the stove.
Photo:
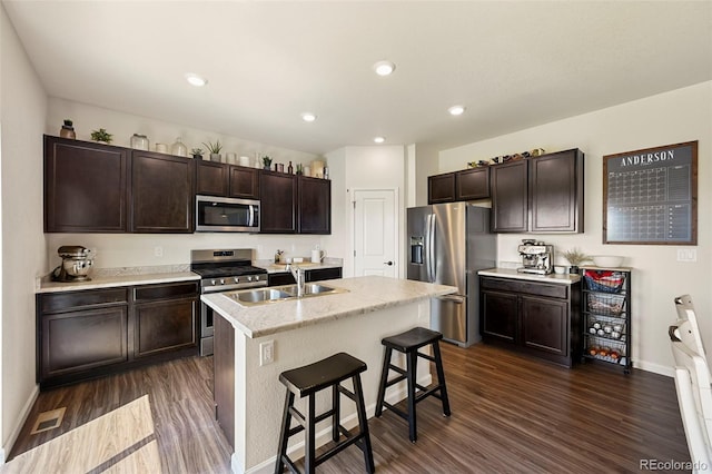
[(39, 280), (36, 293), (75, 292), (79, 289), (112, 288), (117, 286), (150, 285), (199, 280), (200, 275), (190, 271), (189, 265), (159, 267), (97, 268), (89, 274), (89, 282), (52, 282), (49, 275)]

